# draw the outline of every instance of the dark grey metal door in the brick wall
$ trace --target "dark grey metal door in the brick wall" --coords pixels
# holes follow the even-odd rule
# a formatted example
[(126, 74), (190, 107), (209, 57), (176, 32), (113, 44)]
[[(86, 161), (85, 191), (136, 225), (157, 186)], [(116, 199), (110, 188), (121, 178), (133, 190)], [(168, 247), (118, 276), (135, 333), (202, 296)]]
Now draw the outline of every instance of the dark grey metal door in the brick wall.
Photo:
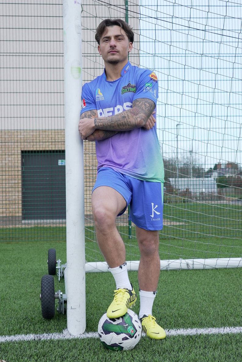
[(65, 219), (65, 151), (22, 151), (21, 156), (22, 219)]

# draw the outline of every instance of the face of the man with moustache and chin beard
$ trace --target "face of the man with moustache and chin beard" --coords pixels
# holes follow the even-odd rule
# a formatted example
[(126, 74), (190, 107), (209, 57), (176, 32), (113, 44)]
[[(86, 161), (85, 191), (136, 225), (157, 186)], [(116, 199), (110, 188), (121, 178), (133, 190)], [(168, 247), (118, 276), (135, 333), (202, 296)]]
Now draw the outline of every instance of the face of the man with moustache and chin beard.
[(98, 45), (99, 54), (104, 62), (118, 64), (128, 59), (128, 52), (132, 50), (132, 43), (129, 41), (125, 31), (118, 25), (107, 26), (106, 33), (103, 33)]

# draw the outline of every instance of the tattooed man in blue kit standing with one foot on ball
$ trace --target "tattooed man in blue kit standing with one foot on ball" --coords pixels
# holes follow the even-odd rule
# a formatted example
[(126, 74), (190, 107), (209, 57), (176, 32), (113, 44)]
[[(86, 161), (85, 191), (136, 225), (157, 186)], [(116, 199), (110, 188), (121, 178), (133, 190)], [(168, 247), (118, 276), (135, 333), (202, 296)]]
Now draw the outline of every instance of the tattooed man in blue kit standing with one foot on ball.
[(126, 251), (116, 228), (116, 216), (130, 204), (140, 249), (139, 317), (147, 336), (165, 338), (152, 316), (160, 275), (159, 230), (162, 229), (164, 166), (156, 134), (157, 76), (128, 62), (134, 33), (121, 19), (99, 24), (95, 39), (104, 72), (83, 85), (79, 132), (96, 142), (97, 180), (92, 209), (97, 241), (115, 282), (107, 310), (118, 318), (136, 301), (129, 281)]

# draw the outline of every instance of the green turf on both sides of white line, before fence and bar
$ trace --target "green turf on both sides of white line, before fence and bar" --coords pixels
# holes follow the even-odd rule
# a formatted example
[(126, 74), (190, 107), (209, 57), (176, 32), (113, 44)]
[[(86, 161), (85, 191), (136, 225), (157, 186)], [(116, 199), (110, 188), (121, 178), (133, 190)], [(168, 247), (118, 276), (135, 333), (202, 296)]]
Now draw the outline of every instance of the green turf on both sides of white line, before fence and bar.
[[(87, 243), (91, 243), (87, 241)], [(63, 241), (3, 242), (0, 244), (0, 335), (62, 332), (66, 316), (52, 320), (41, 315), (41, 277), (48, 273), (49, 248), (66, 262)], [(55, 278), (55, 290), (64, 281)], [(130, 279), (138, 290), (137, 272)], [(242, 269), (162, 271), (153, 314), (165, 329), (236, 327), (242, 325)], [(110, 273), (86, 274), (86, 332), (96, 332), (115, 288)], [(139, 302), (134, 307), (139, 312)], [(241, 334), (167, 337), (154, 341), (142, 337), (128, 352), (105, 350), (98, 339), (21, 341), (0, 344), (0, 359), (16, 361), (240, 361)]]

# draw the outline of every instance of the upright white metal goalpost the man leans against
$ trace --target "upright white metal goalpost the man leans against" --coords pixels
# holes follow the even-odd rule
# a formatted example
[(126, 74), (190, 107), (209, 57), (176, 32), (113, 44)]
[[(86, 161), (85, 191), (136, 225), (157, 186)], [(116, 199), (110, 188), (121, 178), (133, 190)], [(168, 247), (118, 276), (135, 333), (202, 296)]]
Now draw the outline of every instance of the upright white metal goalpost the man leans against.
[(78, 132), (82, 91), (81, 0), (63, 0), (66, 148), (67, 329), (86, 329), (83, 142)]

